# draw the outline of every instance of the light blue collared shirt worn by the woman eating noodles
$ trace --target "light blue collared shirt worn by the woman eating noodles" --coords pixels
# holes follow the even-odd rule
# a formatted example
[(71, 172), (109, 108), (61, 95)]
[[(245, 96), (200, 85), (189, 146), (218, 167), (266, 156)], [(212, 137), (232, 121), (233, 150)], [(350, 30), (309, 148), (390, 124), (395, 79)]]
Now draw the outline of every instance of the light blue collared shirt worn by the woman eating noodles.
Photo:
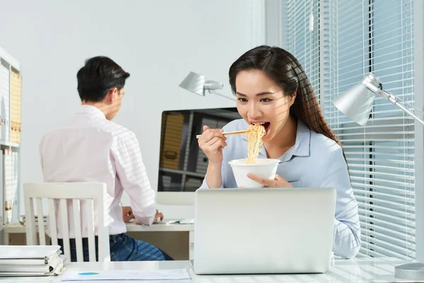
[[(223, 127), (224, 132), (240, 131), (249, 125), (245, 120), (234, 120)], [(227, 136), (223, 149), (222, 185), (237, 187), (228, 161), (247, 157), (247, 139), (244, 134)], [(267, 158), (262, 145), (258, 158)], [(343, 151), (335, 141), (318, 134), (298, 121), (296, 143), (280, 158), (277, 174), (293, 187), (334, 187), (336, 215), (334, 219), (334, 253), (353, 258), (360, 249), (360, 222), (358, 203), (353, 196), (348, 166)], [(201, 187), (208, 188), (206, 178)]]

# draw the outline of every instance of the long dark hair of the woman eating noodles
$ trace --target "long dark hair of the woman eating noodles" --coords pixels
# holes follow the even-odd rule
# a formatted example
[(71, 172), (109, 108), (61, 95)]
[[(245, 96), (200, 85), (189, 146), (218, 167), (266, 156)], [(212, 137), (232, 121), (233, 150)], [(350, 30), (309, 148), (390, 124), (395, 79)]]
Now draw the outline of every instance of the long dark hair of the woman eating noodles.
[(280, 47), (261, 45), (242, 54), (230, 67), (232, 93), (236, 93), (235, 78), (237, 74), (247, 70), (263, 71), (281, 87), (286, 96), (291, 96), (296, 92), (295, 102), (290, 107), (290, 115), (305, 123), (314, 132), (324, 134), (340, 144), (322, 115), (317, 97), (305, 71), (300, 66), (298, 59), (290, 52)]

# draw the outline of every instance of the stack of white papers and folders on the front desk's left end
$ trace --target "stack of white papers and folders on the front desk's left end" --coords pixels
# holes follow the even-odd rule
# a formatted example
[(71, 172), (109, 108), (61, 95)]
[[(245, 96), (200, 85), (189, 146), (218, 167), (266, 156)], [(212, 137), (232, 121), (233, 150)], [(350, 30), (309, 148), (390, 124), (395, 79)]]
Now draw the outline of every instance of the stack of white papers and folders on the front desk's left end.
[(0, 246), (0, 277), (60, 275), (60, 246)]

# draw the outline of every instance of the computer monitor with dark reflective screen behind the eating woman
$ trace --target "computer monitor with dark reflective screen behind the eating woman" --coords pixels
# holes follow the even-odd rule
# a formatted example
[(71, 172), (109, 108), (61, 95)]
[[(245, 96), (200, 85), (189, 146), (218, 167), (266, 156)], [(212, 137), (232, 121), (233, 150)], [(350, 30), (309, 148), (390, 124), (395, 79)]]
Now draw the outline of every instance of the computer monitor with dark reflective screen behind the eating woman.
[(203, 126), (222, 128), (240, 119), (237, 108), (167, 110), (162, 113), (158, 204), (194, 205), (194, 192), (201, 186), (208, 158), (199, 148), (196, 134)]

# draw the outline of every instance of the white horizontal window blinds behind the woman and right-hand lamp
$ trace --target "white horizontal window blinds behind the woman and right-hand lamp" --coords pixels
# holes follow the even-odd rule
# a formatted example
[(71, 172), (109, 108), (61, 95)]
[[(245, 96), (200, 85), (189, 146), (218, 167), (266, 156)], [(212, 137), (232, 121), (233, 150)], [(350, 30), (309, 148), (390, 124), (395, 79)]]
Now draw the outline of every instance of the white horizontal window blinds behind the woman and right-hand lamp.
[[(313, 5), (319, 2), (320, 13), (317, 36), (312, 33), (318, 28), (311, 33), (295, 25), (305, 22), (311, 2), (288, 2), (289, 51), (305, 66), (311, 81), (317, 76), (311, 67), (319, 63), (321, 83), (318, 88), (317, 83), (312, 85), (319, 92), (324, 117), (346, 153), (360, 211), (360, 253), (413, 259), (413, 119), (377, 98), (370, 121), (362, 127), (331, 103), (372, 71), (384, 90), (413, 105), (413, 0), (314, 1)], [(318, 50), (319, 60), (307, 50)], [(312, 58), (314, 64), (310, 64)]]

